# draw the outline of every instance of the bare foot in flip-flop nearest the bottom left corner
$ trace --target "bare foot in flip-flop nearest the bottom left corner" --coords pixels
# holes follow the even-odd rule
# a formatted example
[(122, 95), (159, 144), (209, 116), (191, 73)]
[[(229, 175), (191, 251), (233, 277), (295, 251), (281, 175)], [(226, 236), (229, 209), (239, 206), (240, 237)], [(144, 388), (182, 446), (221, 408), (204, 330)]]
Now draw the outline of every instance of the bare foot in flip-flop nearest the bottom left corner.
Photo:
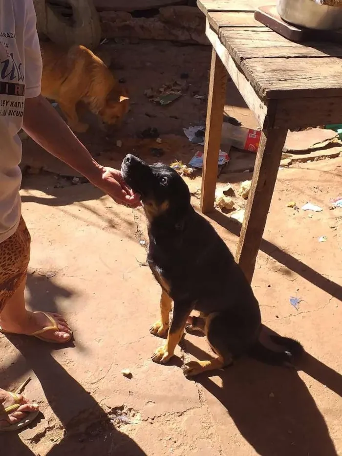
[(27, 416), (27, 412), (36, 412), (38, 410), (38, 404), (29, 401), (21, 394), (17, 394), (17, 397), (21, 404), (20, 407), (12, 413), (5, 413), (5, 409), (14, 405), (16, 401), (8, 391), (0, 388), (0, 430), (21, 421)]

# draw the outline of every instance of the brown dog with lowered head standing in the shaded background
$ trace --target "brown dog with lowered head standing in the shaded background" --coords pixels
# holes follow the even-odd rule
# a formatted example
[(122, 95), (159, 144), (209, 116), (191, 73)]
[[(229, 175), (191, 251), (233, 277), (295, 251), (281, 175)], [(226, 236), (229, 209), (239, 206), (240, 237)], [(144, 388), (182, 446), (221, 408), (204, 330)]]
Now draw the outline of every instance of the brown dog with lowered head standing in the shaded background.
[(69, 127), (86, 131), (79, 121), (76, 105), (83, 101), (106, 124), (117, 124), (129, 109), (127, 92), (107, 65), (81, 45), (65, 50), (54, 43), (42, 42), (42, 95), (55, 100)]

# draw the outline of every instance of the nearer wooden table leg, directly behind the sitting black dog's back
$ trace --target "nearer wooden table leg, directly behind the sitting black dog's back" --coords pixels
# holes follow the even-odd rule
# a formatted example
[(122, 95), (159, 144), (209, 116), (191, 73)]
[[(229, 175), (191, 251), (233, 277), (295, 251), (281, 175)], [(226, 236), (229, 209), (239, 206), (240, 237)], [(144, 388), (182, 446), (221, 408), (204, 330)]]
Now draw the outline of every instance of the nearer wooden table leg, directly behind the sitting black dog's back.
[(286, 135), (286, 129), (264, 130), (261, 135), (251, 190), (235, 255), (235, 261), (240, 265), (249, 282), (252, 282), (256, 256), (277, 180)]

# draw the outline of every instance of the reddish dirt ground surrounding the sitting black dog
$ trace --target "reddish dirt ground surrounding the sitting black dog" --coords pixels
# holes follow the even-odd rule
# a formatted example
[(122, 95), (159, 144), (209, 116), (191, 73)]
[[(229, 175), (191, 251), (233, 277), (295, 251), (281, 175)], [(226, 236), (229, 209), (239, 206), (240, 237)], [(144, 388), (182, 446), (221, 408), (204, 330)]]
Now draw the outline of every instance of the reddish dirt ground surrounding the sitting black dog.
[[(113, 51), (134, 102), (127, 123), (110, 134), (94, 128), (80, 138), (112, 166), (132, 151), (155, 161), (151, 148), (161, 148), (165, 162), (186, 163), (197, 147), (182, 128), (204, 120), (206, 100), (193, 93), (206, 96), (210, 49), (139, 43), (115, 44)], [(192, 88), (180, 100), (167, 107), (147, 100), (146, 88), (183, 72)], [(236, 109), (241, 106), (237, 101)], [(160, 131), (161, 144), (137, 136), (149, 127)], [(303, 344), (303, 365), (297, 372), (244, 359), (196, 381), (186, 379), (180, 365), (210, 356), (203, 337), (186, 334), (169, 365), (150, 361), (161, 344), (149, 332), (160, 289), (144, 265), (142, 210), (119, 207), (82, 180), (72, 185), (77, 174), (30, 140), (23, 162), (31, 167), (21, 190), (32, 236), (27, 303), (63, 313), (75, 341), (55, 347), (0, 336), (1, 387), (15, 390), (30, 375), (25, 394), (42, 410), (35, 427), (0, 435), (3, 454), (342, 455), (342, 209), (330, 209), (329, 202), (341, 194), (342, 158), (279, 170), (257, 257), (252, 285), (263, 321)], [(218, 187), (231, 182), (237, 189), (250, 177), (228, 166)], [(187, 182), (198, 209), (201, 177)], [(288, 207), (290, 201), (298, 211)], [(322, 211), (302, 211), (308, 201)], [(211, 221), (235, 252), (241, 225), (219, 211)], [(321, 236), (327, 239), (319, 242)], [(300, 298), (298, 310), (291, 297)], [(130, 378), (122, 369), (130, 370)]]

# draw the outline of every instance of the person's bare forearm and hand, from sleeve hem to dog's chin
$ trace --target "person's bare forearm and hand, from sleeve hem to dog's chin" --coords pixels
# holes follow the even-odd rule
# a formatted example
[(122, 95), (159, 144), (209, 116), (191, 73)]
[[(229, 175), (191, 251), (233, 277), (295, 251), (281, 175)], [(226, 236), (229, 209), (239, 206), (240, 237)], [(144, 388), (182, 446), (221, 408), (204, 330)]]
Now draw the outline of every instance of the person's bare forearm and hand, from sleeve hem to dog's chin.
[(121, 173), (99, 165), (42, 95), (25, 100), (22, 128), (47, 152), (83, 174), (117, 203), (139, 205), (140, 195), (131, 193)]

